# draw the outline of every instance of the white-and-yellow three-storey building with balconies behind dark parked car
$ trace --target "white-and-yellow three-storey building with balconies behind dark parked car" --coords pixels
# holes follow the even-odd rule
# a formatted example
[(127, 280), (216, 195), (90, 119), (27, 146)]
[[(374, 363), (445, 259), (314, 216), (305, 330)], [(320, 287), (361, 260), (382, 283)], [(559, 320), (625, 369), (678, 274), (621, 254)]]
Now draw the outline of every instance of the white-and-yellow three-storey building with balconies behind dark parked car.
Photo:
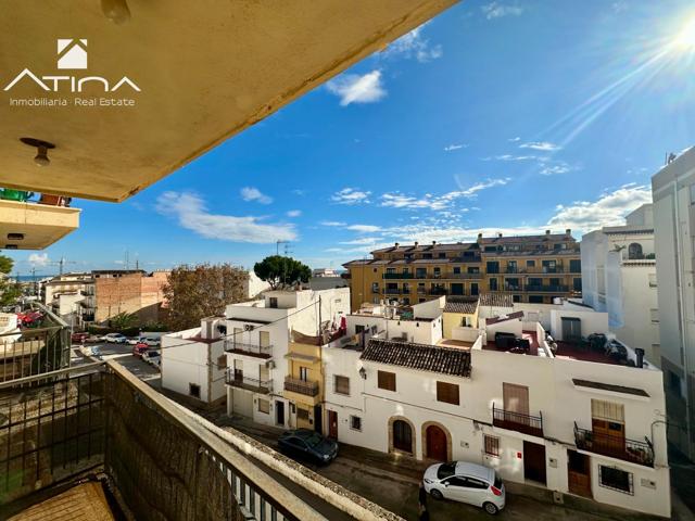
[(349, 312), (348, 288), (267, 291), (263, 300), (227, 306), (227, 412), (320, 430), (317, 343), (326, 331), (338, 330)]

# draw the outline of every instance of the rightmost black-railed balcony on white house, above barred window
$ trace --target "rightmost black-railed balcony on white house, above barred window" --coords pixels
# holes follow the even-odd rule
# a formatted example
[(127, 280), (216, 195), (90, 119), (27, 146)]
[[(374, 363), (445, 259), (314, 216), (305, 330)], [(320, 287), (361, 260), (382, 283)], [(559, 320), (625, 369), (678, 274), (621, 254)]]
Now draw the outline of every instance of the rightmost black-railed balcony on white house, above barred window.
[(654, 448), (646, 436), (644, 440), (644, 442), (641, 442), (580, 429), (574, 423), (574, 444), (577, 448), (632, 463), (644, 465), (645, 467), (654, 467)]

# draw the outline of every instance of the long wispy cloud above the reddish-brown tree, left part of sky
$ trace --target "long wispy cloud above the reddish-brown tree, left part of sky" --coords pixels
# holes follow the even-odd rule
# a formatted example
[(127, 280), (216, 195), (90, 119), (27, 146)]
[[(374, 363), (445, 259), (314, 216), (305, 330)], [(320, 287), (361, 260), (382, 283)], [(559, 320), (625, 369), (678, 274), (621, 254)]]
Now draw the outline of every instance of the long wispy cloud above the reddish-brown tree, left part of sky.
[(207, 212), (204, 201), (189, 192), (164, 192), (156, 200), (156, 211), (178, 220), (179, 226), (205, 239), (268, 244), (296, 239), (294, 225), (260, 223), (260, 217), (216, 215)]

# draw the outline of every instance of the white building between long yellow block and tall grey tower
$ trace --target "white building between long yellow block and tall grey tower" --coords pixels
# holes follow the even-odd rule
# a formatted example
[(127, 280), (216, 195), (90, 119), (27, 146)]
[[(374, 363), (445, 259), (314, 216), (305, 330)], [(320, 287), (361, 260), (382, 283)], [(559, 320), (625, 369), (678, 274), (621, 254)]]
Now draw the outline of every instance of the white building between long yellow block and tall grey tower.
[(581, 244), (583, 302), (607, 312), (610, 330), (660, 365), (652, 204), (628, 215), (624, 226), (584, 234)]

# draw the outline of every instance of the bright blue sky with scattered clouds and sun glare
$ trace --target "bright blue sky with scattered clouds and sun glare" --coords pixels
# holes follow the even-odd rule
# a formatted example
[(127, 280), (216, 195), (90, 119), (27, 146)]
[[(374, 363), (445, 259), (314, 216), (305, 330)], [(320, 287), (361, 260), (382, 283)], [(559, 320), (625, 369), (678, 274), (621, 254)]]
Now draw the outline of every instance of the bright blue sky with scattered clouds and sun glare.
[[(276, 240), (312, 267), (479, 231), (576, 236), (650, 200), (695, 141), (692, 1), (463, 2), (81, 227), (20, 272), (252, 266)], [(694, 30), (695, 30), (695, 26)], [(285, 246), (281, 245), (281, 249)]]

